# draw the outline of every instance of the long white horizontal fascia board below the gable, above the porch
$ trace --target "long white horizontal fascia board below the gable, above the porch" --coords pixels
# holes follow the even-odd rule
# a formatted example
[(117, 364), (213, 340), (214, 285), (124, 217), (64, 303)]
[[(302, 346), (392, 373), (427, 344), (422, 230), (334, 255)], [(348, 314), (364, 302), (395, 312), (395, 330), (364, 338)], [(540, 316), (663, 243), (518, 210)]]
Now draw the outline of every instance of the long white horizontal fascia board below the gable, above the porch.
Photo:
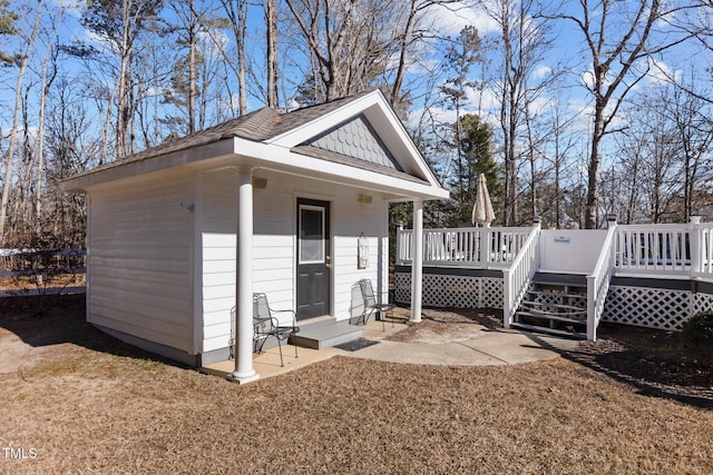
[(426, 200), (449, 197), (449, 191), (438, 186), (404, 180), (375, 171), (362, 170), (349, 165), (295, 154), (289, 148), (276, 145), (254, 142), (238, 137), (234, 140), (235, 154), (244, 157), (250, 165), (256, 168), (349, 185), (385, 195)]

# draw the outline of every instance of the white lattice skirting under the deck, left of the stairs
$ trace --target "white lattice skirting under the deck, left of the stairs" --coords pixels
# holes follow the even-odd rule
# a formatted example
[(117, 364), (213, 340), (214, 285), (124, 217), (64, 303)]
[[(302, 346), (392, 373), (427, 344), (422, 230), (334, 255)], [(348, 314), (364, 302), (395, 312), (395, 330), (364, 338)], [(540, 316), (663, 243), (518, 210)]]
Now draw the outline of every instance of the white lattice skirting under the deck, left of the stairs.
[[(394, 298), (411, 301), (411, 274), (394, 275)], [(502, 308), (502, 279), (497, 277), (423, 275), (423, 305), (452, 308)]]

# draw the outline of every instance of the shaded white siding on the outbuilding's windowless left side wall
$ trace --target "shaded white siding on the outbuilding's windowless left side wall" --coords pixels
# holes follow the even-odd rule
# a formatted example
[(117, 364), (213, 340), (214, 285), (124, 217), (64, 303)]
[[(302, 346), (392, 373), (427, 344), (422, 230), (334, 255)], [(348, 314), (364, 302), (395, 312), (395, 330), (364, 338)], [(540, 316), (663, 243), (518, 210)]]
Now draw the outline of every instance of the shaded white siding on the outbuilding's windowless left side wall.
[(88, 321), (193, 353), (192, 177), (90, 192)]

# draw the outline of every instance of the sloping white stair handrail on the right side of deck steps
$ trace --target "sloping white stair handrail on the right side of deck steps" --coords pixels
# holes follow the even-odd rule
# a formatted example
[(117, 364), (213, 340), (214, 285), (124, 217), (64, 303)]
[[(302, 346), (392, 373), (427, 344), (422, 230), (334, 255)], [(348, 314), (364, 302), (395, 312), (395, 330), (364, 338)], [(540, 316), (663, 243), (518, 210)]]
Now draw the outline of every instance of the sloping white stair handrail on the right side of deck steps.
[(597, 327), (604, 313), (616, 261), (616, 220), (609, 220), (608, 230), (592, 274), (587, 276), (587, 339), (597, 339)]

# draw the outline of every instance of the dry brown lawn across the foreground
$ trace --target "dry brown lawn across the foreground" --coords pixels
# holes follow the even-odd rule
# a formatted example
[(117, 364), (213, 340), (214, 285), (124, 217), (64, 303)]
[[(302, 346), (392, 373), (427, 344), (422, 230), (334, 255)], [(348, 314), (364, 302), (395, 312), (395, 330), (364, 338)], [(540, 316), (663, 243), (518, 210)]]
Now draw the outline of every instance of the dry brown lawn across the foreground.
[(19, 337), (28, 353), (0, 372), (0, 473), (713, 473), (705, 397), (643, 394), (592, 352), (497, 367), (334, 357), (240, 386), (100, 334), (81, 297), (35, 316), (10, 300), (0, 348)]

